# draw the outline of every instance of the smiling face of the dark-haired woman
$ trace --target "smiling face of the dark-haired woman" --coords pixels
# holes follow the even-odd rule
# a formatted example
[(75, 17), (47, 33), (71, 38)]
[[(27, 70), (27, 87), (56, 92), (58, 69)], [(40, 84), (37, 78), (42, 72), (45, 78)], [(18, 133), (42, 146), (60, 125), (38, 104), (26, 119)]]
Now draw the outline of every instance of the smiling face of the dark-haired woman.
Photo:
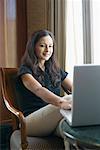
[(48, 36), (40, 38), (35, 45), (35, 53), (39, 61), (47, 61), (53, 53), (53, 40)]

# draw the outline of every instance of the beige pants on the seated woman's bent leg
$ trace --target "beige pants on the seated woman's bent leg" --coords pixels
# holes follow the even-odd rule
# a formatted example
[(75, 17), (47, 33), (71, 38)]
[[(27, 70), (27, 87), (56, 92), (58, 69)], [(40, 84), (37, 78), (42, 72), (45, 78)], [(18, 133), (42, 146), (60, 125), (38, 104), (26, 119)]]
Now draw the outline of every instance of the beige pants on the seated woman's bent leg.
[(59, 108), (49, 104), (26, 117), (27, 135), (46, 136), (54, 131), (60, 135), (60, 120), (62, 118)]

